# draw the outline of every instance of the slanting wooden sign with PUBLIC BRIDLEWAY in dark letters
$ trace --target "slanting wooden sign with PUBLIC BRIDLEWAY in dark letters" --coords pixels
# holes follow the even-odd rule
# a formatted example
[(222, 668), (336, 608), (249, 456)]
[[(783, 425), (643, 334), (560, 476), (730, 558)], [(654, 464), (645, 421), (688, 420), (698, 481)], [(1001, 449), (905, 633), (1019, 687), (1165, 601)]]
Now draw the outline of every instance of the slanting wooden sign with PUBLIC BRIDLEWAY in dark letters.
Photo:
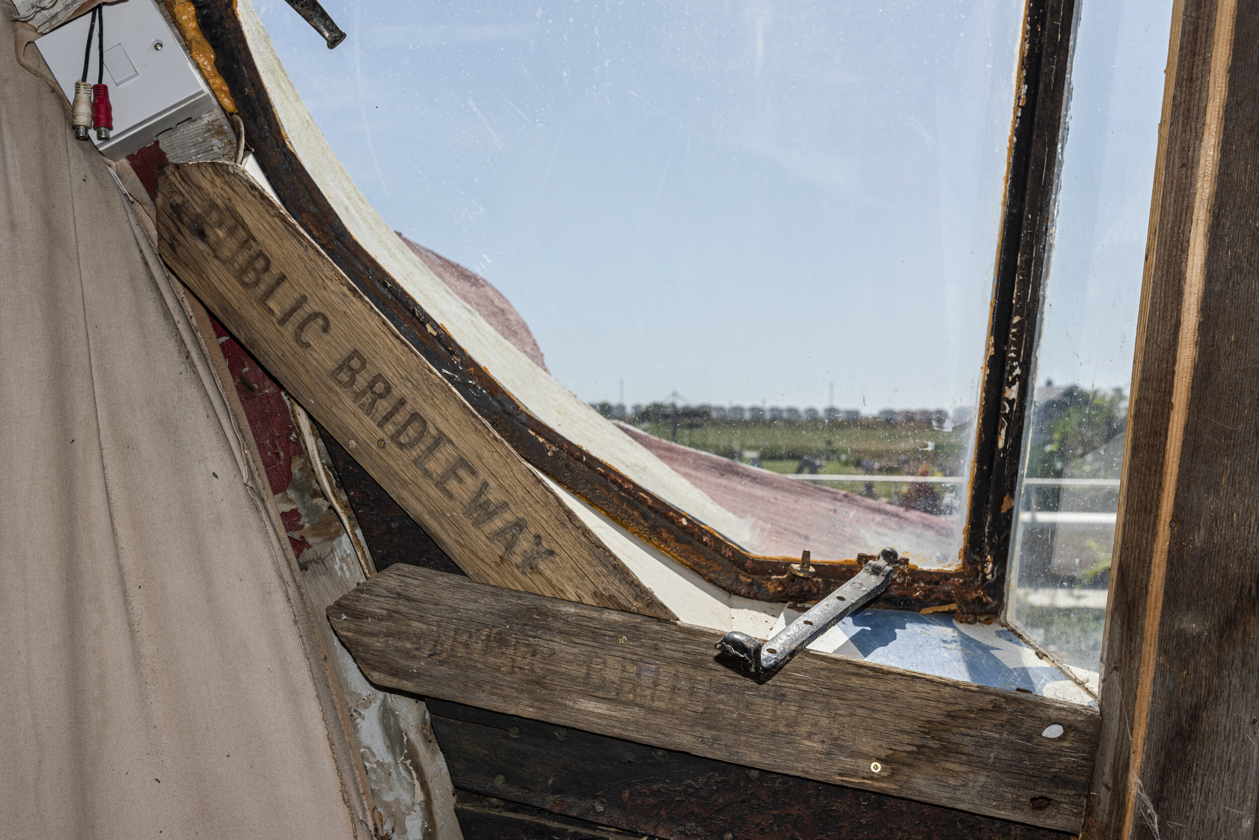
[(482, 583), (675, 617), (244, 169), (164, 166), (161, 257)]

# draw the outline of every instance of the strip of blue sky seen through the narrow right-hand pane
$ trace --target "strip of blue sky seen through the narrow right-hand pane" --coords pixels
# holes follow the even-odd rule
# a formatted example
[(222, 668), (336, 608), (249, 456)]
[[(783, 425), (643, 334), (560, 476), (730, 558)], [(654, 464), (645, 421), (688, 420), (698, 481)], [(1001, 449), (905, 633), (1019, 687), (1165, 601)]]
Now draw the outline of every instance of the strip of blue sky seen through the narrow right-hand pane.
[(1127, 388), (1172, 4), (1083, 10), (1036, 379)]

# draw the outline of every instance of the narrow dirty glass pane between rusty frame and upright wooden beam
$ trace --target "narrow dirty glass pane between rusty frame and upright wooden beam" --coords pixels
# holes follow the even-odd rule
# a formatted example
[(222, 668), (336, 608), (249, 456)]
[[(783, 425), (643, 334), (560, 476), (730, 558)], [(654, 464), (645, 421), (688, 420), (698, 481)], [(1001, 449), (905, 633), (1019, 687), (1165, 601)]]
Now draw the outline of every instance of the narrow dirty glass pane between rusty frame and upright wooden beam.
[(1097, 678), (1171, 0), (1084, 0), (1007, 617)]

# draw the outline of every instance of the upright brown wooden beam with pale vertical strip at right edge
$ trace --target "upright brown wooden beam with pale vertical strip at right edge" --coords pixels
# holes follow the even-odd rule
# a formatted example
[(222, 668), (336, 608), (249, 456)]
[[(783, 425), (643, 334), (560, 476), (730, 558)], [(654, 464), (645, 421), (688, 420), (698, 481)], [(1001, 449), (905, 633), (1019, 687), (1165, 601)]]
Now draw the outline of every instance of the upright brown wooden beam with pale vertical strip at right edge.
[(1255, 4), (1175, 5), (1089, 837), (1255, 831), (1256, 38)]

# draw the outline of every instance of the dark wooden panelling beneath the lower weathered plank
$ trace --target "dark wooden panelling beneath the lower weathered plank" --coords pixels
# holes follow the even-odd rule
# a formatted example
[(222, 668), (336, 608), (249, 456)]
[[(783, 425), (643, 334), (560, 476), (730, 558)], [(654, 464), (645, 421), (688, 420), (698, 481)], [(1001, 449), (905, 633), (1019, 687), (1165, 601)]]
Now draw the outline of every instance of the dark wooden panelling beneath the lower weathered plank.
[[(460, 703), (428, 701), (451, 780), (635, 836), (753, 840), (1068, 840), (883, 793), (657, 749)], [(461, 800), (463, 793), (460, 795)], [(703, 835), (700, 835), (703, 830)]]

